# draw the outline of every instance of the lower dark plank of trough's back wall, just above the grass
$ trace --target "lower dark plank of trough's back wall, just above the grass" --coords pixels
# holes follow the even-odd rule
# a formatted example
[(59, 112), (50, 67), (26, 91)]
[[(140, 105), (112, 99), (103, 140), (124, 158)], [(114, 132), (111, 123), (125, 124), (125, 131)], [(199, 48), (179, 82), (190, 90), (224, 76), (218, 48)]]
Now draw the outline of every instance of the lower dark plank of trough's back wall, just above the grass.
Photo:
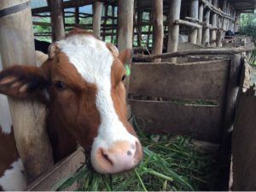
[(220, 107), (138, 100), (129, 102), (138, 121), (143, 119), (146, 131), (192, 135), (202, 141), (219, 142), (223, 115)]

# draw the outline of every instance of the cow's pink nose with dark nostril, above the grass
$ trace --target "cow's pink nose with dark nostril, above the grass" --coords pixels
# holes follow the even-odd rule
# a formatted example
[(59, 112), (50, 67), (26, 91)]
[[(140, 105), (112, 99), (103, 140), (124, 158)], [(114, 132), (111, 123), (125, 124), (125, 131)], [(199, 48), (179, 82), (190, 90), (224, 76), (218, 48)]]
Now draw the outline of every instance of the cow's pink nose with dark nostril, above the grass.
[(143, 159), (141, 144), (120, 141), (111, 148), (98, 148), (92, 165), (97, 172), (118, 173), (131, 170)]

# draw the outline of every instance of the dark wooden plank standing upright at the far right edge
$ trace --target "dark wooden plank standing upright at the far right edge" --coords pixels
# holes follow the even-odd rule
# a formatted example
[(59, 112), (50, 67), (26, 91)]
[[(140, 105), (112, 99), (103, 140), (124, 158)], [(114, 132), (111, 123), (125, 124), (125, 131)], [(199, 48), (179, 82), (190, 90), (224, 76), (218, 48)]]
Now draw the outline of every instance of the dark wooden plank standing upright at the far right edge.
[(242, 93), (232, 134), (233, 188), (256, 189), (256, 97), (255, 87)]

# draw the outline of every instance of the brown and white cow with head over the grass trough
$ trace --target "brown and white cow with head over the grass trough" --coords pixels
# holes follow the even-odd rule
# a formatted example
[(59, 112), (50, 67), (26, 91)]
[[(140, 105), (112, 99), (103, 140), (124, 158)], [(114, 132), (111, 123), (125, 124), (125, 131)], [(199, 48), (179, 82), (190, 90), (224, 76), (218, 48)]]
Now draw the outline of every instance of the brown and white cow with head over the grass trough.
[[(129, 56), (130, 51), (119, 54), (112, 44), (74, 30), (50, 46), (49, 59), (41, 67), (4, 69), (0, 93), (37, 97), (48, 106), (47, 130), (55, 161), (72, 153), (79, 143), (91, 148), (91, 164), (97, 172), (125, 172), (143, 158), (142, 146), (126, 119), (122, 81), (123, 63)], [(3, 95), (0, 125), (0, 189), (25, 189), (24, 168)]]

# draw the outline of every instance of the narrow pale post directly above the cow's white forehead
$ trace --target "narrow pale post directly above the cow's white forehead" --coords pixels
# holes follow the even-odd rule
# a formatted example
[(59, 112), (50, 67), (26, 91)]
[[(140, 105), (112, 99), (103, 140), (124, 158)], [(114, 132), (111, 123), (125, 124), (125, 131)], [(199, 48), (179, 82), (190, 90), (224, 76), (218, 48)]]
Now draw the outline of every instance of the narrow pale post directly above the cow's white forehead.
[(92, 28), (96, 38), (101, 38), (102, 2), (95, 1), (93, 4)]

